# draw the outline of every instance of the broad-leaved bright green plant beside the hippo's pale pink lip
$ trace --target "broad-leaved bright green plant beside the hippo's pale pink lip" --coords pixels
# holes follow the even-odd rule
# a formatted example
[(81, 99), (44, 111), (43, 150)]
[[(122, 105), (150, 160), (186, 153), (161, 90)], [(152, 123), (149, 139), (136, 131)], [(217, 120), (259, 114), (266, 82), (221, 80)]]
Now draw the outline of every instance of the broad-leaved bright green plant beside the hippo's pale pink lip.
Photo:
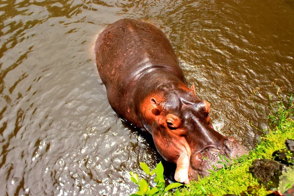
[[(169, 190), (182, 186), (181, 183), (174, 182), (168, 185), (167, 187), (165, 187), (165, 179), (163, 176), (164, 169), (161, 162), (159, 162), (156, 168), (152, 171), (150, 171), (146, 163), (140, 162), (140, 166), (142, 170), (148, 175), (148, 180), (145, 180), (144, 178), (139, 180), (138, 174), (131, 171), (130, 172), (131, 180), (136, 185), (138, 185), (138, 191), (136, 192), (136, 194), (132, 194), (131, 196), (160, 196), (160, 195), (165, 196), (168, 194)], [(156, 186), (150, 187), (149, 185), (150, 178), (154, 174), (155, 174), (154, 182), (156, 183)]]

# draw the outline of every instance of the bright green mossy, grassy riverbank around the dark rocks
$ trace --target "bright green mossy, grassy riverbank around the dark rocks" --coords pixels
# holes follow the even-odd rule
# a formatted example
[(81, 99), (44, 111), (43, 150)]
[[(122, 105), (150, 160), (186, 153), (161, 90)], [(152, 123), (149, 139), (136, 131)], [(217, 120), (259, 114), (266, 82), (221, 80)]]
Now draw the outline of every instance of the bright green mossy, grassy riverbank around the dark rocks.
[[(257, 145), (247, 156), (230, 163), (223, 160), (223, 169), (211, 171), (211, 175), (199, 181), (191, 182), (189, 186), (176, 190), (176, 196), (223, 196), (235, 194), (238, 196), (266, 196), (271, 190), (258, 183), (249, 168), (256, 159), (271, 159), (276, 150), (286, 149), (285, 140), (294, 139), (294, 95), (278, 96), (270, 104), (268, 120), (269, 128), (264, 130)], [(292, 160), (293, 161), (293, 160)], [(293, 185), (292, 185), (293, 186)], [(283, 189), (282, 187), (278, 187)], [(284, 190), (280, 190), (283, 192)]]

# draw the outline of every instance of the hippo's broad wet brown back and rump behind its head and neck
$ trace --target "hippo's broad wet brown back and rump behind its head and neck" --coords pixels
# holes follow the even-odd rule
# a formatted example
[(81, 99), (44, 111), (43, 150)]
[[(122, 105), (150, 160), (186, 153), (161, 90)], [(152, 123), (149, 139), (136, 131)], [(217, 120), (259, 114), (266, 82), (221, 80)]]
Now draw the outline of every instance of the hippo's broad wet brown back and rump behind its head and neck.
[(165, 69), (186, 83), (170, 41), (145, 22), (123, 19), (109, 25), (98, 35), (95, 53), (110, 105), (125, 120), (130, 120), (125, 114), (129, 102), (138, 96), (134, 92), (148, 88), (141, 80), (144, 73)]

